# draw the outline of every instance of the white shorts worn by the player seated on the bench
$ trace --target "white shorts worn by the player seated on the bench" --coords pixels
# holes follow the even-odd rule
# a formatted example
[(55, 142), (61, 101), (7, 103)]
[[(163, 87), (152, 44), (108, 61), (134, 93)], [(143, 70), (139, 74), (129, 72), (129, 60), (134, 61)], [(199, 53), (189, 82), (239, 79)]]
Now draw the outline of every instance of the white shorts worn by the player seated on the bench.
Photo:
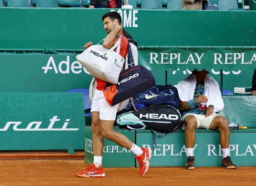
[[(207, 117), (205, 117), (205, 114), (185, 114), (182, 117), (182, 121), (185, 120), (185, 117), (187, 117), (188, 115), (194, 115), (196, 120), (197, 120), (197, 129), (209, 129), (209, 126), (211, 125), (211, 122), (213, 121), (213, 118), (217, 115), (220, 114), (216, 114), (213, 113), (212, 115), (208, 115)], [(182, 129), (186, 129), (185, 124), (183, 124)]]

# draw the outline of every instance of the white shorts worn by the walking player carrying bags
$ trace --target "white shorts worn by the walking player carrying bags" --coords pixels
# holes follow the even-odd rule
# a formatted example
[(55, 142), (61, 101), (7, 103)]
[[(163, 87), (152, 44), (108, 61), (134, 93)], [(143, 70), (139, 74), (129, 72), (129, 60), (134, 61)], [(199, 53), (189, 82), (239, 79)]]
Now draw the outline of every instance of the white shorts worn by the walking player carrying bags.
[(103, 91), (97, 89), (95, 90), (91, 112), (100, 112), (101, 120), (116, 120), (118, 106), (119, 103), (111, 107), (106, 101)]

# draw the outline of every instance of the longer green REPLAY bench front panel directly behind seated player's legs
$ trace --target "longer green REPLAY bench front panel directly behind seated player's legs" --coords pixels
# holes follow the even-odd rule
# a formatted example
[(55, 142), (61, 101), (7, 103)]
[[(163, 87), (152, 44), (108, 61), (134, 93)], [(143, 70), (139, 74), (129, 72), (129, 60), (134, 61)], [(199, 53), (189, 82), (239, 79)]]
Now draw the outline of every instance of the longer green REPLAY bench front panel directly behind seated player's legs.
[[(252, 129), (251, 129), (252, 130)], [(152, 149), (151, 167), (184, 167), (187, 160), (184, 130), (177, 130), (157, 138), (154, 150), (154, 134), (137, 131), (137, 145)], [(160, 134), (160, 133), (159, 133)], [(194, 145), (195, 167), (221, 167), (223, 154), (219, 142), (219, 131), (196, 130)], [(255, 130), (231, 130), (230, 158), (239, 167), (256, 165)], [(138, 164), (137, 164), (138, 167)]]

